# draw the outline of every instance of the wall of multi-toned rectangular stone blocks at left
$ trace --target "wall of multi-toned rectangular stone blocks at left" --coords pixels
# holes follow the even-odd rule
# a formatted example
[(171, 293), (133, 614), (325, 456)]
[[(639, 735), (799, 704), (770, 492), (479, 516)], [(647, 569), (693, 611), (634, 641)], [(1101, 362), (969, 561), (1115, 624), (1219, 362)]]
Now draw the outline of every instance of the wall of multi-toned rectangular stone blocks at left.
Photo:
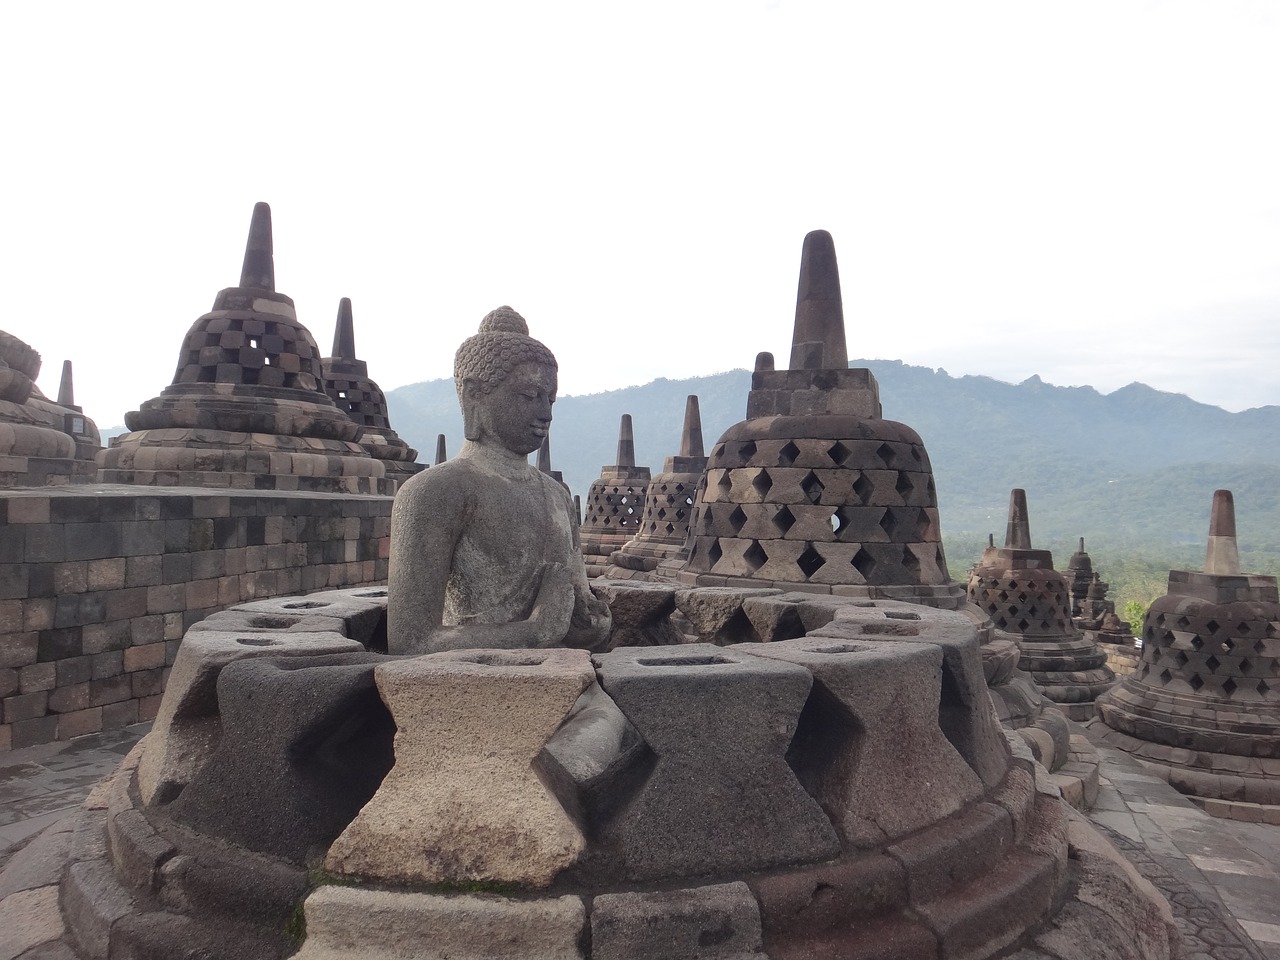
[(387, 579), (390, 497), (0, 492), (0, 750), (155, 716), (178, 641), (244, 600)]

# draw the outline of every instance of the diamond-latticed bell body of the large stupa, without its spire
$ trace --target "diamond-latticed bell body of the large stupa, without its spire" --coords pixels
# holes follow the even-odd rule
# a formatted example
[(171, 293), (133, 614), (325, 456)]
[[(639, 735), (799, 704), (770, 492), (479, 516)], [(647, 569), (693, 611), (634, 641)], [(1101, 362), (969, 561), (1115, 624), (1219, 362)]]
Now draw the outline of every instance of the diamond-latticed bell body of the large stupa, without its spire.
[[(891, 420), (748, 420), (712, 449), (689, 573), (854, 586), (950, 582), (924, 444)], [(705, 585), (714, 585), (705, 582)], [(868, 591), (870, 593), (870, 591)]]

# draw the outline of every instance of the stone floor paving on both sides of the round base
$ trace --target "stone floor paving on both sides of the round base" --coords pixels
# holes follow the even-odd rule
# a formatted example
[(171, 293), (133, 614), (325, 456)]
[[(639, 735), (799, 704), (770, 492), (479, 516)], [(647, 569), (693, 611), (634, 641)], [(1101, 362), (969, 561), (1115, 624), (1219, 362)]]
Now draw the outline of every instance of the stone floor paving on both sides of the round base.
[[(148, 727), (0, 753), (0, 869), (76, 809)], [(1280, 827), (1213, 819), (1129, 755), (1100, 745), (1098, 756), (1091, 817), (1169, 899), (1187, 938), (1183, 960), (1280, 960)], [(40, 902), (47, 890), (0, 884), (0, 960), (70, 957), (56, 945), (55, 901)]]

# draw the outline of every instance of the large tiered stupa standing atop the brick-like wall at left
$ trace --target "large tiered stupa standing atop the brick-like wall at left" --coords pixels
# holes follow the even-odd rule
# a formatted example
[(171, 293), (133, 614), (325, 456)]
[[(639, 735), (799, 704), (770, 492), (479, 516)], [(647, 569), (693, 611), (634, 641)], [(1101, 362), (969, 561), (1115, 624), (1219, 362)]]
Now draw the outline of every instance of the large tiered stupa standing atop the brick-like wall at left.
[(104, 483), (316, 493), (394, 492), (361, 428), (324, 392), (320, 349), (275, 291), (271, 209), (253, 207), (237, 287), (182, 344), (173, 383), (124, 417)]

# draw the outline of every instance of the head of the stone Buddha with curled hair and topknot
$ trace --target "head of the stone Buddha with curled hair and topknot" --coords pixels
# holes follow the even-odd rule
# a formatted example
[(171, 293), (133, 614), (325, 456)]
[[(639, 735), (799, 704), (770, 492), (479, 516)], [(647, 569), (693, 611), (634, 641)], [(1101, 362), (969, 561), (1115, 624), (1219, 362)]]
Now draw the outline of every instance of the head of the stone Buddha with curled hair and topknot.
[(536, 451), (550, 428), (557, 371), (525, 317), (506, 306), (490, 311), (453, 357), (465, 436), (520, 456)]

